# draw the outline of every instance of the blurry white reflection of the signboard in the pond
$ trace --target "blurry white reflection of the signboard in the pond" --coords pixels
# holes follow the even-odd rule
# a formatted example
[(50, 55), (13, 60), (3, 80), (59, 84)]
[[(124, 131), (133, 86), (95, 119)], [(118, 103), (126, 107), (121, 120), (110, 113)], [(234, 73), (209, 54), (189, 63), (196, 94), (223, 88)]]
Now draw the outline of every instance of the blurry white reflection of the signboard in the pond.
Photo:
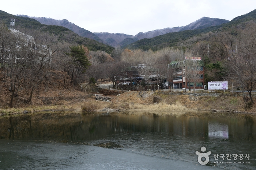
[(229, 126), (221, 123), (208, 123), (208, 137), (229, 138)]

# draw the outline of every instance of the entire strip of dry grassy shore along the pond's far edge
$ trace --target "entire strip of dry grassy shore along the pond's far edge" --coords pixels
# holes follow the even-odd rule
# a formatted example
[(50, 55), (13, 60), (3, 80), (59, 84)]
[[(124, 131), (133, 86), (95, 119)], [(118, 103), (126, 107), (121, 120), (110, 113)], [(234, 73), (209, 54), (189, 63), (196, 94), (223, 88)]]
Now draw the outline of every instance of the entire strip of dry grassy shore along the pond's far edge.
[[(0, 115), (22, 114), (37, 111), (140, 111), (146, 113), (161, 112), (197, 112), (218, 111), (256, 114), (256, 104), (250, 108), (245, 104), (242, 96), (222, 95), (197, 96), (170, 95), (169, 91), (104, 91), (111, 101), (96, 100), (95, 94), (86, 94), (76, 90), (51, 92), (48, 96), (35, 97), (29, 106), (0, 109)], [(119, 93), (119, 94), (118, 94)], [(61, 96), (60, 96), (61, 95)], [(100, 94), (97, 94), (100, 95)], [(36, 100), (37, 99), (37, 100)], [(41, 99), (41, 100), (39, 100)], [(42, 102), (46, 101), (45, 102)], [(60, 100), (62, 99), (62, 100)], [(47, 104), (48, 103), (48, 104)]]

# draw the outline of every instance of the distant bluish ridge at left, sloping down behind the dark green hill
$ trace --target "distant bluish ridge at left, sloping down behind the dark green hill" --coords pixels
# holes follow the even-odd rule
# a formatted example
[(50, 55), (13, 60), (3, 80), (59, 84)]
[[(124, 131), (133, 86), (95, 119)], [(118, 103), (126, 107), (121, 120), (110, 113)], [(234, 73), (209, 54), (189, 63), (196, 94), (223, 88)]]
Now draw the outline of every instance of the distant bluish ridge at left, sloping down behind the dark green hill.
[(98, 36), (96, 36), (94, 33), (90, 32), (90, 31), (88, 31), (88, 30), (86, 30), (84, 28), (81, 28), (81, 27), (77, 26), (77, 25), (69, 22), (66, 19), (55, 20), (55, 19), (52, 19), (52, 18), (31, 17), (31, 16), (27, 16), (27, 15), (17, 15), (17, 16), (29, 17), (29, 18), (35, 19), (35, 20), (39, 21), (41, 24), (45, 24), (45, 25), (58, 25), (58, 26), (62, 26), (62, 27), (68, 28), (71, 31), (77, 33), (79, 36), (87, 37), (87, 38), (90, 38), (90, 39), (94, 39), (96, 41), (99, 41), (100, 43), (103, 43), (103, 41)]

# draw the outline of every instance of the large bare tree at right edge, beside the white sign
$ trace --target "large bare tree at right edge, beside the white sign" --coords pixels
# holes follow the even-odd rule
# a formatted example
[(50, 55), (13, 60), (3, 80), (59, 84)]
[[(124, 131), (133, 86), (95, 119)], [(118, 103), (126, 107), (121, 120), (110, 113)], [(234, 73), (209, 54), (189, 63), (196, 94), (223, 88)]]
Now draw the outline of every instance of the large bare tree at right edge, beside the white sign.
[(249, 23), (245, 29), (240, 29), (238, 35), (238, 54), (231, 56), (225, 63), (225, 66), (229, 71), (230, 77), (248, 91), (250, 100), (253, 102), (252, 90), (256, 88), (255, 23)]

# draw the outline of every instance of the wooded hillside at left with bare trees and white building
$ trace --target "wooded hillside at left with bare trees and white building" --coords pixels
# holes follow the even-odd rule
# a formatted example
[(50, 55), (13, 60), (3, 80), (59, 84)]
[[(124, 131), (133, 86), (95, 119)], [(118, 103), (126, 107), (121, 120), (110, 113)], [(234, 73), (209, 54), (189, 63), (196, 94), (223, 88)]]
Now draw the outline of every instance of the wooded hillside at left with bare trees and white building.
[[(15, 19), (12, 28), (11, 19)], [(89, 55), (100, 55), (97, 57), (102, 62), (104, 57), (112, 61), (110, 53), (114, 50), (65, 27), (4, 11), (0, 11), (0, 49), (0, 107), (51, 104), (51, 94), (61, 91), (60, 100), (65, 100), (72, 96), (70, 92), (74, 95), (74, 89), (82, 90), (81, 83), (89, 81)]]

